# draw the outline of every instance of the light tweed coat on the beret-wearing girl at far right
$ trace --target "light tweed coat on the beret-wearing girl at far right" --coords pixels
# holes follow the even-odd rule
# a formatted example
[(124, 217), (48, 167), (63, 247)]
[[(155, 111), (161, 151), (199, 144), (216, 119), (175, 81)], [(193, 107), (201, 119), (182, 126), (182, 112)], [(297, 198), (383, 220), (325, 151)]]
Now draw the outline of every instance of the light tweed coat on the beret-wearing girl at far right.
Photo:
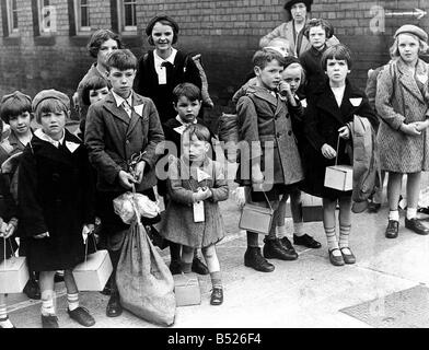
[(379, 74), (375, 107), (383, 119), (378, 142), (384, 171), (415, 173), (429, 168), (428, 130), (422, 130), (420, 136), (398, 130), (403, 122), (424, 121), (428, 117), (428, 66), (420, 59), (414, 77), (402, 59)]

